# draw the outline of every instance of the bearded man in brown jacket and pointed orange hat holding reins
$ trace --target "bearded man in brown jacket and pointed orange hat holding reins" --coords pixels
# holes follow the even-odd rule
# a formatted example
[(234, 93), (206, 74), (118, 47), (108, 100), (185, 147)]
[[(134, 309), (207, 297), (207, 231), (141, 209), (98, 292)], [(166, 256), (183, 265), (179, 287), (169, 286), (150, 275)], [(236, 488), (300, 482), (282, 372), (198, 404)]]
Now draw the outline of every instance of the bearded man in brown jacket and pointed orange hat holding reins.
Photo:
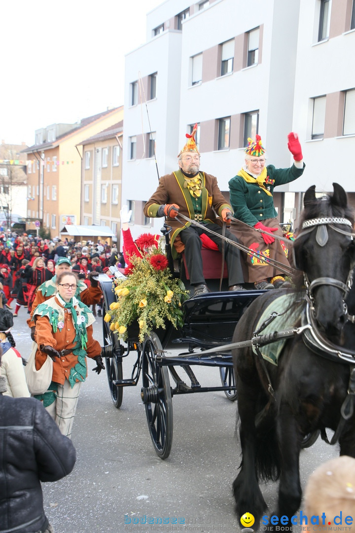
[[(222, 239), (204, 231), (204, 228), (222, 234), (222, 221), (228, 221), (232, 214), (229, 204), (218, 188), (217, 178), (200, 172), (200, 152), (195, 142), (195, 124), (184, 148), (178, 155), (178, 171), (162, 176), (159, 187), (144, 206), (147, 217), (166, 216), (172, 227), (170, 234), (173, 257), (185, 252), (187, 269), (194, 286), (194, 296), (209, 292), (202, 272), (202, 240), (200, 236), (209, 237), (222, 251)], [(191, 222), (179, 222), (175, 219), (178, 213), (200, 223), (199, 227)], [(218, 216), (216, 216), (216, 213)], [(221, 217), (221, 218), (220, 218)], [(238, 242), (228, 230), (226, 237)], [(235, 246), (224, 243), (225, 259), (228, 267), (229, 290), (244, 290), (240, 251)]]

